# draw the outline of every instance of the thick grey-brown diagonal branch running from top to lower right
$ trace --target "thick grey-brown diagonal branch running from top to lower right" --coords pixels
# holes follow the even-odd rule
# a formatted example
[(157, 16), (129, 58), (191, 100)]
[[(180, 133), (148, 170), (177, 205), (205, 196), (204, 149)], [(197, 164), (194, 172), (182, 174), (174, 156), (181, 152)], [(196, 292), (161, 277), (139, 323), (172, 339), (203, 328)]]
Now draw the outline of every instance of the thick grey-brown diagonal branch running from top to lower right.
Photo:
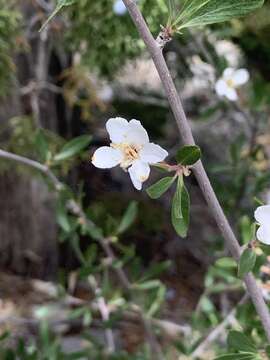
[[(134, 0), (123, 0), (123, 2), (126, 5), (130, 16), (141, 38), (143, 39), (158, 71), (183, 143), (187, 145), (194, 145), (195, 141), (191, 132), (191, 128), (183, 109), (182, 102), (174, 85), (172, 76), (163, 57), (162, 49), (153, 38), (138, 6), (136, 5), (136, 2)], [(236, 259), (236, 261), (238, 261), (241, 254), (240, 245), (221, 208), (221, 205), (219, 204), (219, 201), (201, 161), (195, 164), (193, 171), (203, 196), (212, 212), (212, 216), (214, 217), (216, 224), (218, 225), (225, 239), (226, 246), (229, 249), (231, 255)], [(270, 341), (270, 314), (264, 302), (262, 292), (257, 286), (256, 280), (252, 274), (247, 274), (244, 280), (256, 311), (262, 321), (267, 338)]]

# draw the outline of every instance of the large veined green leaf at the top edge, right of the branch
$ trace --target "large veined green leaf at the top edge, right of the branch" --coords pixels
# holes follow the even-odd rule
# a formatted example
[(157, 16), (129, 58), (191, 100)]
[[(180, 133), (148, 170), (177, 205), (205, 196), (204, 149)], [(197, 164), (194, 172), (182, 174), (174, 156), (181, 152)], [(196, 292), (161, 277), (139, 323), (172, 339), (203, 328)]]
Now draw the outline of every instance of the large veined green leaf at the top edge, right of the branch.
[(262, 7), (264, 0), (186, 0), (174, 25), (177, 30), (245, 16)]

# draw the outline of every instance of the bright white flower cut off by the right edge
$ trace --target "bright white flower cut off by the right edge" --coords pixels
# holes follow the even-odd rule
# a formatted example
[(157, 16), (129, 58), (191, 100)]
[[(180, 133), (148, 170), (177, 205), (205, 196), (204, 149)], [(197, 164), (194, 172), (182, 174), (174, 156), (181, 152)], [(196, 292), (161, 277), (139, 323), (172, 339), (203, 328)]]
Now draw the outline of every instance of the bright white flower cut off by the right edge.
[(260, 225), (257, 231), (257, 239), (264, 244), (270, 245), (270, 205), (259, 206), (254, 216)]

